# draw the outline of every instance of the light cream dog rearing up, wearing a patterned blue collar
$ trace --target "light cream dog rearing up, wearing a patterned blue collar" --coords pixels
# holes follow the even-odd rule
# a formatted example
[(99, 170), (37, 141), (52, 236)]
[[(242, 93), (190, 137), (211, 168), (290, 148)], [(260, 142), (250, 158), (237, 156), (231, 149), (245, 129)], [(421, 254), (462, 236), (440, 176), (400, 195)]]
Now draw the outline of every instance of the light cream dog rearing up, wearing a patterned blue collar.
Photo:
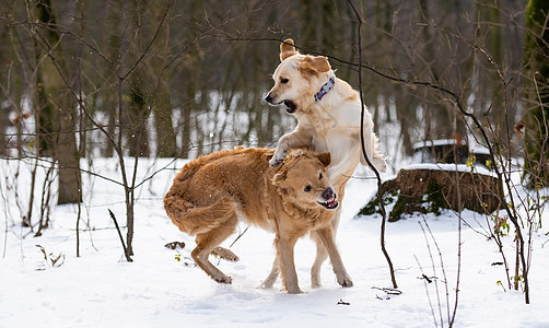
[[(344, 186), (359, 162), (367, 165), (362, 154), (361, 102), (357, 91), (349, 83), (336, 78), (328, 59), (324, 56), (300, 54), (291, 38), (280, 45), (280, 65), (272, 79), (274, 86), (266, 101), (271, 105), (285, 105), (288, 114), (297, 119), (296, 128), (283, 136), (277, 145), (271, 166), (283, 161), (288, 150), (304, 147), (315, 152), (330, 152), (331, 164), (328, 176), (342, 200)], [(369, 160), (379, 172), (386, 171), (384, 155), (377, 150), (377, 138), (367, 108), (363, 117), (364, 148)], [(341, 209), (332, 219), (334, 232), (339, 224)], [(320, 266), (327, 254), (318, 237), (315, 237), (317, 254), (311, 269), (314, 288), (320, 285)], [(272, 286), (279, 274), (277, 262), (264, 282)]]

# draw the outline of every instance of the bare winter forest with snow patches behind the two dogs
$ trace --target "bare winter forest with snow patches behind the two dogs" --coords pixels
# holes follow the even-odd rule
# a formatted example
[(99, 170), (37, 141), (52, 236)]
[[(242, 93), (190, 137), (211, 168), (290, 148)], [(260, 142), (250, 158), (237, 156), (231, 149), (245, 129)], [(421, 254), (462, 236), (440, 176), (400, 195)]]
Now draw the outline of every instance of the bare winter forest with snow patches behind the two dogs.
[[(525, 156), (530, 185), (547, 185), (547, 7), (534, 0), (2, 1), (0, 155), (34, 166), (31, 189), (42, 186), (36, 197), (15, 195), (20, 215), (9, 219), (39, 234), (49, 203), (78, 203), (82, 173), (93, 174), (94, 159), (115, 156), (130, 234), (139, 157), (274, 147), (295, 125), (262, 101), (287, 37), (361, 84), (394, 171), (416, 142), (465, 139), (492, 145), (499, 159)], [(35, 186), (38, 168), (46, 181)]]

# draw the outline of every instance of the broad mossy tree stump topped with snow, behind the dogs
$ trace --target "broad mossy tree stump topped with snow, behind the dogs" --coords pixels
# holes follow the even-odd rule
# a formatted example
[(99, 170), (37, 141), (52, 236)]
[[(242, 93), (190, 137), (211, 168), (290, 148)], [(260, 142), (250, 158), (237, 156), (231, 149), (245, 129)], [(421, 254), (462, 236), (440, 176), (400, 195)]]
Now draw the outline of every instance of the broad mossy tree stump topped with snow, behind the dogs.
[[(396, 178), (386, 180), (381, 188), (384, 204), (390, 209), (388, 221), (398, 221), (404, 214), (435, 213), (441, 209), (492, 213), (501, 209), (501, 184), (488, 171), (471, 172), (471, 167), (454, 164), (411, 165), (398, 172)], [(378, 191), (379, 192), (379, 191)], [(377, 195), (359, 215), (378, 213)]]

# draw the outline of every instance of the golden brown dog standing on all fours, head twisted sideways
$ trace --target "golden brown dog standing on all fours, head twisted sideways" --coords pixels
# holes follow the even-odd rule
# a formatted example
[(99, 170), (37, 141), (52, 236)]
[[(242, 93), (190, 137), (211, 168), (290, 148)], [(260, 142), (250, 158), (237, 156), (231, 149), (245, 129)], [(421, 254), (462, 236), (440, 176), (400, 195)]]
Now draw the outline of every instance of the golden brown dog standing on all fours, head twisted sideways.
[(329, 153), (295, 150), (277, 168), (269, 166), (272, 154), (268, 149), (221, 151), (186, 164), (177, 174), (164, 208), (182, 232), (196, 235), (197, 246), (191, 251), (195, 262), (213, 280), (231, 283), (208, 257), (214, 254), (238, 260), (219, 245), (235, 232), (242, 219), (274, 232), (276, 262), (289, 293), (301, 293), (293, 248), (309, 231), (316, 232), (327, 249), (338, 282), (352, 285), (330, 224), (338, 201), (326, 173)]

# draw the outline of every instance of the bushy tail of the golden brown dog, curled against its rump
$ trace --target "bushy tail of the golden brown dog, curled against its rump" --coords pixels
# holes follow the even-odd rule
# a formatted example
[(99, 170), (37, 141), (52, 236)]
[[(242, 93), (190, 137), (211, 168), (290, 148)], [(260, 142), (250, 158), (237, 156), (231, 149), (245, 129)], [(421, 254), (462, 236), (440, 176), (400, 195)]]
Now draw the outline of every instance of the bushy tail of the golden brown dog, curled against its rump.
[(168, 192), (164, 198), (164, 209), (172, 222), (191, 236), (212, 231), (236, 215), (234, 200), (229, 196), (219, 198), (210, 206), (195, 207), (183, 197)]

